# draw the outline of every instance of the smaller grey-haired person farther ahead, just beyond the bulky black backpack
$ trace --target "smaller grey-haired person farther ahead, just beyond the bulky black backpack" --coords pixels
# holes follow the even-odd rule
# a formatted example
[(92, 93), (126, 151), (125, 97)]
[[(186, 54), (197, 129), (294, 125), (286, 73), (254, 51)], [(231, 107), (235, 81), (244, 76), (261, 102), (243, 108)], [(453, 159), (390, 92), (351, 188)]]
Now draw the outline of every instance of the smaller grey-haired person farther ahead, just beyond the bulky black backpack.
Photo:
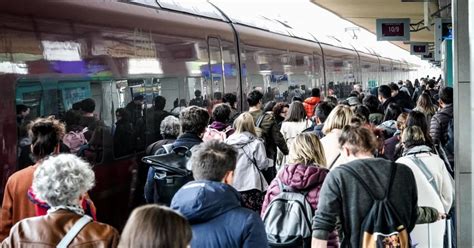
[(160, 132), (163, 137), (162, 140), (149, 145), (146, 149), (147, 155), (154, 155), (158, 150), (163, 148), (164, 145), (173, 144), (176, 138), (179, 136), (181, 126), (179, 119), (169, 115), (163, 119), (160, 124)]

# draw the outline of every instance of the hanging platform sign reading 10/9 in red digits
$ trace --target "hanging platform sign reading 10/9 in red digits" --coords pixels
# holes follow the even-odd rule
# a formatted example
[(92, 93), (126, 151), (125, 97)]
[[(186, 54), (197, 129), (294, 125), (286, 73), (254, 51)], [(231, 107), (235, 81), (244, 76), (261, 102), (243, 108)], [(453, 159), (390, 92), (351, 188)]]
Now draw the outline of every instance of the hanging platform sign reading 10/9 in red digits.
[(410, 18), (377, 19), (376, 28), (378, 41), (410, 40)]

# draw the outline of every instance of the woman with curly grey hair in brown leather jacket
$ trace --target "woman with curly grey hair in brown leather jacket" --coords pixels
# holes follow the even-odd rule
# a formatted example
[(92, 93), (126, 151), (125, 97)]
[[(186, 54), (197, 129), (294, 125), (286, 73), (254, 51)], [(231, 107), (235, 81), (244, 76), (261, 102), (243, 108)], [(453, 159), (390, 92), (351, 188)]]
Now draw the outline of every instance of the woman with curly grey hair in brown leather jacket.
[(51, 208), (45, 216), (27, 218), (14, 225), (2, 247), (116, 247), (117, 230), (92, 221), (80, 207), (94, 183), (89, 164), (76, 155), (60, 154), (44, 160), (34, 173), (33, 192)]

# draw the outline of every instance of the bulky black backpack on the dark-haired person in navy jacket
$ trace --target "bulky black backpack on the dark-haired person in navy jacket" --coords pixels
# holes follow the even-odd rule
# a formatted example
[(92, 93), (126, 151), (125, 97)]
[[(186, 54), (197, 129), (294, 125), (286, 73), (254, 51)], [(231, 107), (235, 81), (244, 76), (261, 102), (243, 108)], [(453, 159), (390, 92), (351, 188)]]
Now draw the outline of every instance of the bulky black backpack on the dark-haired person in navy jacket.
[(175, 147), (169, 153), (143, 157), (142, 161), (153, 167), (153, 202), (169, 206), (176, 192), (193, 180), (186, 168), (191, 157), (187, 147)]

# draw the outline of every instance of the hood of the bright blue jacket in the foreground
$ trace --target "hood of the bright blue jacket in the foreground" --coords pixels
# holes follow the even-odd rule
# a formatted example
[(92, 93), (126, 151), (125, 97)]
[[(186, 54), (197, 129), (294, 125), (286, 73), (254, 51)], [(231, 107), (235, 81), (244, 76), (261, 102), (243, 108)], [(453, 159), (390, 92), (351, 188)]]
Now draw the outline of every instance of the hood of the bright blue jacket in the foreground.
[(232, 186), (205, 180), (186, 184), (171, 202), (171, 208), (186, 217), (191, 225), (207, 222), (239, 207), (240, 194)]

